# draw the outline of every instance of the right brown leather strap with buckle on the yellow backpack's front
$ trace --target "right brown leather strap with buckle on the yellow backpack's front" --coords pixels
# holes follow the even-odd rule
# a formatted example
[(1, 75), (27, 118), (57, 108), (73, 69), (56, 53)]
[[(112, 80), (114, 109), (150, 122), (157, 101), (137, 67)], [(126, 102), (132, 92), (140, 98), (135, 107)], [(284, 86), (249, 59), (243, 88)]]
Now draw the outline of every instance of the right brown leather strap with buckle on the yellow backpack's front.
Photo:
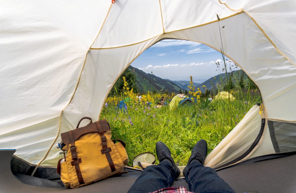
[[(101, 121), (106, 121), (106, 120), (101, 120)], [(102, 140), (103, 149), (101, 150), (101, 152), (102, 152), (102, 154), (106, 155), (108, 163), (109, 163), (110, 168), (111, 168), (111, 172), (115, 172), (116, 169), (115, 169), (114, 163), (113, 163), (112, 158), (111, 158), (110, 153), (109, 153), (111, 151), (111, 148), (107, 147), (107, 138), (106, 138), (106, 136), (104, 136), (104, 129), (102, 127), (101, 121), (95, 122), (96, 127), (98, 128), (99, 134), (101, 136), (101, 140)], [(109, 125), (108, 125), (108, 127), (109, 127)], [(109, 128), (108, 128), (108, 130), (109, 130)]]

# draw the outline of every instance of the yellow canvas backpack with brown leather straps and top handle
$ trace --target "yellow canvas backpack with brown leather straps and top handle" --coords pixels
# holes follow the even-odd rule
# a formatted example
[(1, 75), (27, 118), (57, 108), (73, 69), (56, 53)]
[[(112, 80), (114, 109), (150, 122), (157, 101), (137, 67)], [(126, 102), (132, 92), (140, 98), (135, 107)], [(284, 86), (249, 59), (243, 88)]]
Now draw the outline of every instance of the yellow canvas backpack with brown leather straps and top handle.
[[(83, 117), (83, 119), (90, 119)], [(109, 123), (103, 119), (85, 127), (61, 133), (62, 148), (67, 152), (60, 159), (57, 172), (67, 188), (78, 188), (99, 181), (114, 174), (123, 173), (128, 162), (125, 143), (111, 140)]]

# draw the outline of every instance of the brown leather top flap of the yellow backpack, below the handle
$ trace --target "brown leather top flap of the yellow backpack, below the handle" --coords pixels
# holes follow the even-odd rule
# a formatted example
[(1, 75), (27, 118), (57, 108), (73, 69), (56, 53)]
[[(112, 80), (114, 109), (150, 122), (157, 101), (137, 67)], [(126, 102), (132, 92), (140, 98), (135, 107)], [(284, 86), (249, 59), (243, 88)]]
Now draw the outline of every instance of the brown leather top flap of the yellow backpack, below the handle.
[[(96, 124), (98, 123), (98, 124)], [(110, 130), (110, 125), (107, 122), (106, 119), (100, 120), (100, 121), (96, 121), (93, 123), (89, 123), (88, 125), (84, 126), (84, 127), (80, 127), (77, 129), (72, 130), (73, 132), (73, 136), (74, 136), (74, 140), (76, 141), (81, 135), (86, 134), (86, 133), (90, 133), (90, 132), (97, 132), (99, 133), (98, 130), (98, 126), (97, 125), (101, 125), (103, 131), (108, 131)], [(71, 136), (71, 131), (65, 132), (65, 133), (61, 133), (61, 138), (63, 143), (68, 144), (71, 143), (70, 140), (70, 136)]]

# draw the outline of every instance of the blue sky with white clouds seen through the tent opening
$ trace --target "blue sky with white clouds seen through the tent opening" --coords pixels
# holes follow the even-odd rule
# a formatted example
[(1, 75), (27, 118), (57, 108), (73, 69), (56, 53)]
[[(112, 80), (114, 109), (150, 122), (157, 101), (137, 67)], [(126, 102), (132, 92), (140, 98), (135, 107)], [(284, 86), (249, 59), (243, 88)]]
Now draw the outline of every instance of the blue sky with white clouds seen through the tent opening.
[(204, 44), (166, 39), (145, 50), (131, 66), (163, 79), (189, 80), (192, 75), (194, 82), (201, 83), (218, 74), (215, 62), (221, 59), (220, 52)]

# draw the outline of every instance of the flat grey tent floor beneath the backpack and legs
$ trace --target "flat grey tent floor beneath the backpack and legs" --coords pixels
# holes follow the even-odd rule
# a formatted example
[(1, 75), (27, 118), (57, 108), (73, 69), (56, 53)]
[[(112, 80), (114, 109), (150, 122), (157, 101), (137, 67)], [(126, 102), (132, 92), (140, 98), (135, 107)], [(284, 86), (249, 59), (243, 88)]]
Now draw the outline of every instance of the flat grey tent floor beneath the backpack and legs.
[[(139, 175), (139, 172), (129, 172), (126, 176), (108, 178), (78, 189), (31, 186), (22, 183), (12, 174), (10, 161), (14, 152), (0, 150), (1, 192), (127, 192)], [(296, 155), (246, 163), (217, 173), (236, 192), (296, 192)], [(188, 189), (184, 180), (175, 181), (173, 186), (185, 186)]]

